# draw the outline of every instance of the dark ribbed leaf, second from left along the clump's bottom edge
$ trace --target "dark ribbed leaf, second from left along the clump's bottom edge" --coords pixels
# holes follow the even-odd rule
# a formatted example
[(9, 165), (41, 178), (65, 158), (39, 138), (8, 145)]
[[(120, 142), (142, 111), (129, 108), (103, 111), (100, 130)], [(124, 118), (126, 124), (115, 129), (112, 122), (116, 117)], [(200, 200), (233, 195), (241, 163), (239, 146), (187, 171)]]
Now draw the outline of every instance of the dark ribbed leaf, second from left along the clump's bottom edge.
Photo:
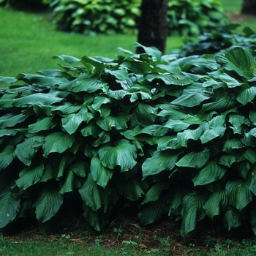
[(57, 189), (45, 187), (34, 203), (36, 208), (37, 220), (47, 222), (54, 217), (63, 203), (63, 196)]

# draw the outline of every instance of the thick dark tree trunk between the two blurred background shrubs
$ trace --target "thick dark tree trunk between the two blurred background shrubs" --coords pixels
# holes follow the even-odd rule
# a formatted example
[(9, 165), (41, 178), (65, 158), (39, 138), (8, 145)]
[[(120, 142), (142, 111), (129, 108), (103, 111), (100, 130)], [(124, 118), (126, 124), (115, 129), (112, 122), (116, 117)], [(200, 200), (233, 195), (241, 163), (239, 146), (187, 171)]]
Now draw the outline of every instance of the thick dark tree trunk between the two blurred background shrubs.
[[(145, 46), (154, 46), (165, 52), (167, 38), (167, 0), (143, 0), (138, 31), (138, 42)], [(137, 48), (137, 53), (143, 53)]]

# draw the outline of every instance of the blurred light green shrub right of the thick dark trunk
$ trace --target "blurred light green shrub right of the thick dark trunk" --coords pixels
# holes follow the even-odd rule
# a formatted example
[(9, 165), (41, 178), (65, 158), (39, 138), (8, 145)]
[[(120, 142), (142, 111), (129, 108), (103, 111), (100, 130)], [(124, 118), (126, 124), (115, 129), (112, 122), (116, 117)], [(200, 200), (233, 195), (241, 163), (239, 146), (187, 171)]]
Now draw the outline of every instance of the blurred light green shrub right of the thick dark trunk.
[(227, 24), (227, 17), (219, 0), (168, 1), (169, 34), (197, 36), (204, 31), (214, 31)]

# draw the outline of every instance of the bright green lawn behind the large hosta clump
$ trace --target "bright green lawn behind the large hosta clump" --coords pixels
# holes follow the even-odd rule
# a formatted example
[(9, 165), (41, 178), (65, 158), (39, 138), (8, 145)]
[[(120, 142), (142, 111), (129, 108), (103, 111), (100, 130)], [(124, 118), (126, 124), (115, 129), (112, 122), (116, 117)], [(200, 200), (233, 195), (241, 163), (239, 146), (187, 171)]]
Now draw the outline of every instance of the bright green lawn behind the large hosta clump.
[[(116, 58), (116, 48), (135, 50), (131, 35), (97, 35), (65, 33), (53, 30), (48, 13), (26, 13), (0, 8), (0, 76), (34, 73), (56, 68), (52, 56), (105, 56)], [(181, 45), (181, 37), (167, 39), (167, 53)]]

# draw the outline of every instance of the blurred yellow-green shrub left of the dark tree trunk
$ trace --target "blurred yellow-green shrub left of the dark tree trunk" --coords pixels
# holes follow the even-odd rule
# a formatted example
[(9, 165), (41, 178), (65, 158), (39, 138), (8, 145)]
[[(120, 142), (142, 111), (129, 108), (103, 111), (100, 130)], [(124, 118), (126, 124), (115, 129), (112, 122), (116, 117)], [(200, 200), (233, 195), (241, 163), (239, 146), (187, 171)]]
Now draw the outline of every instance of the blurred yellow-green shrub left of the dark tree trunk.
[(140, 16), (140, 0), (57, 0), (50, 5), (58, 29), (83, 34), (127, 33)]

